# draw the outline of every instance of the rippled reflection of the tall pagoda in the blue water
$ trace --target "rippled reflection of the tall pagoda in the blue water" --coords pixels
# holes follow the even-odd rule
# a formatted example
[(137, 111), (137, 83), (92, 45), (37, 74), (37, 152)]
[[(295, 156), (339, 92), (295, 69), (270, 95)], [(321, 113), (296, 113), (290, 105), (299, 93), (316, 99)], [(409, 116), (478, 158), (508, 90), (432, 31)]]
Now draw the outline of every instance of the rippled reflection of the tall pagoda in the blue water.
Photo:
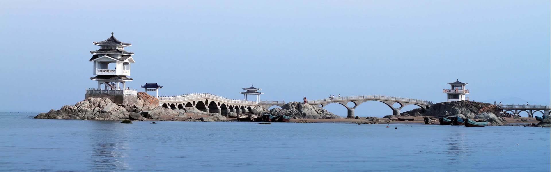
[[(115, 121), (116, 122), (116, 121)], [(114, 121), (93, 121), (90, 138), (90, 168), (99, 171), (114, 171), (128, 168), (124, 149), (128, 148), (124, 125)]]

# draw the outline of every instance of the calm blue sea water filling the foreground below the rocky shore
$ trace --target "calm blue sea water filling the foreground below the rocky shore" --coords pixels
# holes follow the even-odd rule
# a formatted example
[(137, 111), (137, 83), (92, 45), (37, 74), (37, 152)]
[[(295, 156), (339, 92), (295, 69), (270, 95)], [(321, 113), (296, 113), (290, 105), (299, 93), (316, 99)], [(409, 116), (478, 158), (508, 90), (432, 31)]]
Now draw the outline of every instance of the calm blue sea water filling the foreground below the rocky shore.
[(123, 124), (32, 119), (35, 115), (0, 113), (0, 171), (550, 168), (549, 128), (171, 121)]

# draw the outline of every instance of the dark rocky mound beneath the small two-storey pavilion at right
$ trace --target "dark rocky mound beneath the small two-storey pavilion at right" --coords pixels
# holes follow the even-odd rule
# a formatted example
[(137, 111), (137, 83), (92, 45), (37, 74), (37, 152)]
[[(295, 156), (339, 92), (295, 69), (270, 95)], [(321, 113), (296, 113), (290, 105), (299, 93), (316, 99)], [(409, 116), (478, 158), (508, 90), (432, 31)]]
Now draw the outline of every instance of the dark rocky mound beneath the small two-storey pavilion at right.
[[(503, 125), (506, 121), (498, 116), (501, 110), (498, 106), (476, 101), (451, 101), (436, 103), (429, 109), (414, 109), (402, 112), (398, 116), (433, 116), (433, 117), (461, 117), (468, 119), (483, 119), (489, 125)], [(505, 114), (501, 116), (510, 116)], [(391, 117), (385, 116), (385, 117)], [(517, 116), (518, 117), (518, 116)]]

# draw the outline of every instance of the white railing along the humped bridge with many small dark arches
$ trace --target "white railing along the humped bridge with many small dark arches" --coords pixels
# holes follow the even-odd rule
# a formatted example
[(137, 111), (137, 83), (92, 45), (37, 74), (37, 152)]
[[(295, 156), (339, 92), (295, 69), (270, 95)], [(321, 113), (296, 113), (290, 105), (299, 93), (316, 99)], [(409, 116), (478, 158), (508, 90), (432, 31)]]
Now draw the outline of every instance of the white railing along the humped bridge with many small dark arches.
[(199, 98), (210, 98), (210, 99), (224, 101), (226, 103), (233, 103), (233, 104), (258, 105), (256, 101), (228, 99), (228, 98), (224, 98), (224, 97), (209, 94), (209, 93), (193, 93), (193, 94), (177, 95), (177, 96), (159, 96), (159, 101), (186, 101), (186, 100), (199, 99)]

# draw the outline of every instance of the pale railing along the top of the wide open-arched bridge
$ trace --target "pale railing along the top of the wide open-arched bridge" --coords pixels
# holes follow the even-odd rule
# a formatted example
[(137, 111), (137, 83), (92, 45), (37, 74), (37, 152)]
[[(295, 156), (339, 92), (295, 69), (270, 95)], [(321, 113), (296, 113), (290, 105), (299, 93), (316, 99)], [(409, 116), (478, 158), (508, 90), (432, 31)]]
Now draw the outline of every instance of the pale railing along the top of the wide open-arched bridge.
[(326, 103), (330, 101), (342, 101), (342, 100), (365, 100), (365, 99), (377, 99), (377, 100), (391, 100), (391, 101), (401, 101), (401, 102), (407, 102), (407, 103), (418, 103), (418, 104), (425, 104), (425, 105), (432, 105), (433, 103), (431, 101), (426, 100), (419, 100), (419, 99), (409, 99), (409, 98), (399, 98), (395, 96), (385, 96), (385, 95), (360, 95), (360, 96), (345, 96), (340, 98), (326, 98), (326, 99), (320, 99), (320, 100), (309, 100), (309, 104), (321, 104)]

